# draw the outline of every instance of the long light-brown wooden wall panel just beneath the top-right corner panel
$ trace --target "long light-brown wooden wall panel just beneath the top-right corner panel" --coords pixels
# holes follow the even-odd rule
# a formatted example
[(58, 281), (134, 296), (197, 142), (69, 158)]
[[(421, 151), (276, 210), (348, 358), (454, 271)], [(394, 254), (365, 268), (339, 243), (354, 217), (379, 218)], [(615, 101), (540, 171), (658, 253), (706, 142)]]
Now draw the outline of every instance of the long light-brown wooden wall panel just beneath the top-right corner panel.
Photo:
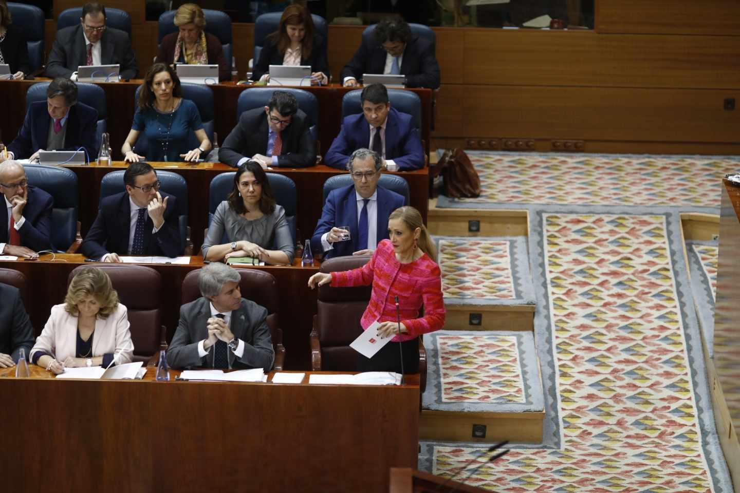
[(465, 30), (465, 84), (740, 87), (736, 36)]

